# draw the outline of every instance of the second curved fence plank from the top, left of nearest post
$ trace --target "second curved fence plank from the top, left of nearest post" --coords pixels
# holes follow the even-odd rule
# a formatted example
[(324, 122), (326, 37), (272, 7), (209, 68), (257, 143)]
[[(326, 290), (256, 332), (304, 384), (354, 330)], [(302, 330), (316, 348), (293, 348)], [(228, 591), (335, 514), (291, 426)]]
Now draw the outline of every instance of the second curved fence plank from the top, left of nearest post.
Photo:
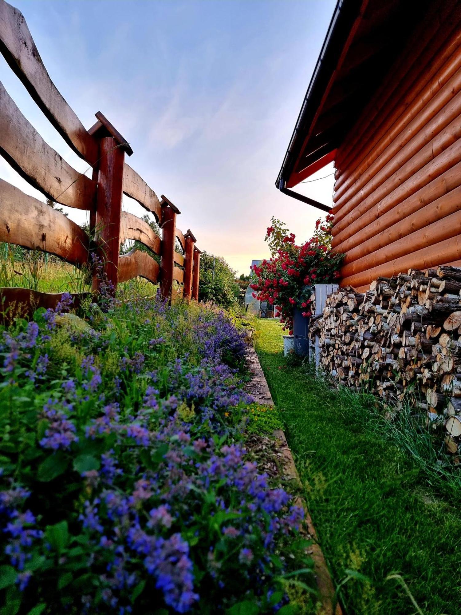
[(69, 207), (90, 209), (95, 181), (81, 175), (50, 148), (0, 82), (0, 154), (34, 188)]

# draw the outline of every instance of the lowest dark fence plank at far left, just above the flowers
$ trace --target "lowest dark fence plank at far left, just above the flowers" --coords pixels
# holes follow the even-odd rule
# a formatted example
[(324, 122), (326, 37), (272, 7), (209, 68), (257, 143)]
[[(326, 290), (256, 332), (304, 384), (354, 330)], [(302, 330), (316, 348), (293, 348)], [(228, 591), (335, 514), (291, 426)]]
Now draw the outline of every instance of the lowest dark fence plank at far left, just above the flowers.
[[(55, 309), (64, 294), (41, 293), (28, 288), (0, 288), (0, 323), (11, 322), (15, 317), (30, 317), (38, 308)], [(90, 295), (91, 293), (72, 293), (73, 308), (78, 308)]]

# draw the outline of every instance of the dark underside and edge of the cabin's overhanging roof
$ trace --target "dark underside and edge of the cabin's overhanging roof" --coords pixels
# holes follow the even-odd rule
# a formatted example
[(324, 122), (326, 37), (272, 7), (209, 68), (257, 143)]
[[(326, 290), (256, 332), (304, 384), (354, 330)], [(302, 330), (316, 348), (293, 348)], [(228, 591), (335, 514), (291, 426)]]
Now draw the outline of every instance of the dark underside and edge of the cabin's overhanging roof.
[(315, 65), (277, 188), (329, 162), (382, 82), (430, 0), (339, 0)]

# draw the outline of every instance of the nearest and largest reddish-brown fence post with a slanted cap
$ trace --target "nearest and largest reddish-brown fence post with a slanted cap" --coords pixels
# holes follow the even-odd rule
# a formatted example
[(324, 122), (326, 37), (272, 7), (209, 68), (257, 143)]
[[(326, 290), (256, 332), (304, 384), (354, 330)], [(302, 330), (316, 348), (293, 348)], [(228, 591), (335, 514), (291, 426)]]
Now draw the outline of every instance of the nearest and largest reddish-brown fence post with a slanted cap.
[[(103, 271), (111, 292), (117, 288), (120, 252), (120, 216), (122, 213), (123, 176), (125, 152), (133, 153), (127, 141), (98, 111), (98, 121), (89, 133), (100, 140), (97, 167), (98, 189), (96, 209), (90, 215), (90, 231), (95, 233), (97, 255), (103, 261)], [(96, 170), (93, 169), (93, 178)], [(93, 226), (93, 229), (91, 228)], [(101, 276), (93, 273), (93, 290), (100, 290)]]

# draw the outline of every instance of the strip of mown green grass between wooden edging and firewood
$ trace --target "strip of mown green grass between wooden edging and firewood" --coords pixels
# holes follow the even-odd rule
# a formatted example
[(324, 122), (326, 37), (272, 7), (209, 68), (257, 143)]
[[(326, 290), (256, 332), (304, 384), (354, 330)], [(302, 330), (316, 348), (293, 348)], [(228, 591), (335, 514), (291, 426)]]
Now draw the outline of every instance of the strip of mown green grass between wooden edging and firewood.
[(438, 473), (417, 432), (388, 426), (370, 397), (330, 389), (282, 349), (280, 325), (259, 321), (256, 350), (345, 613), (459, 614), (459, 475)]

